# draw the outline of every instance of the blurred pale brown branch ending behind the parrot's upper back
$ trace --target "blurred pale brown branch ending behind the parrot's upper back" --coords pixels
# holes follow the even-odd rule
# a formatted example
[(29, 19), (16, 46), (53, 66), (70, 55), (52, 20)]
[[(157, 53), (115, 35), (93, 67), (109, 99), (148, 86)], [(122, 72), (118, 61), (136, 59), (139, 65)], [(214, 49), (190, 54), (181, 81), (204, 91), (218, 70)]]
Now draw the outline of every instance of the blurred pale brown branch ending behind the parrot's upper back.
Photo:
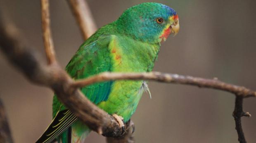
[(76, 21), (82, 32), (83, 39), (88, 39), (88, 37), (90, 37), (97, 30), (97, 28), (87, 2), (85, 0), (67, 1), (74, 16), (76, 16)]

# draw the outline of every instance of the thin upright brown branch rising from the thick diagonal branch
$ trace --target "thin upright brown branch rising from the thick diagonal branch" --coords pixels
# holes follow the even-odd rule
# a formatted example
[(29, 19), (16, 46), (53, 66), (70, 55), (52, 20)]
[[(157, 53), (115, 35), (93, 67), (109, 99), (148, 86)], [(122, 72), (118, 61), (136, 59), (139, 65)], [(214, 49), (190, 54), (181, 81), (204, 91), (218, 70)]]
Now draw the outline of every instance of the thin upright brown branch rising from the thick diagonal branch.
[(49, 1), (41, 0), (41, 18), (42, 18), (42, 30), (43, 30), (43, 41), (45, 47), (45, 53), (49, 64), (56, 62), (55, 51), (52, 42), (52, 33), (50, 28), (50, 12), (49, 12)]

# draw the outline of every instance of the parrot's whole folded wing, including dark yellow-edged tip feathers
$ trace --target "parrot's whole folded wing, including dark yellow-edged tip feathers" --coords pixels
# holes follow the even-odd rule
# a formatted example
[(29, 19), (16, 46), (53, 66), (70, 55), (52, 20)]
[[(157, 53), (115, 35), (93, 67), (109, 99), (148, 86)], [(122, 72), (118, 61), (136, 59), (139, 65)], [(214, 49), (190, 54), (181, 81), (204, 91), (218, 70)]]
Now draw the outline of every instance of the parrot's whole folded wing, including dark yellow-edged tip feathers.
[[(66, 66), (66, 71), (69, 75), (73, 79), (81, 79), (99, 74), (100, 72), (111, 71), (112, 62), (109, 52), (109, 42), (114, 37), (112, 35), (101, 35), (94, 42), (81, 45)], [(112, 83), (112, 81), (94, 83), (81, 88), (81, 91), (90, 101), (98, 104), (108, 99)], [(54, 98), (54, 104), (57, 105), (53, 107), (53, 113), (56, 116), (36, 143), (50, 143), (77, 120), (76, 116), (68, 109), (63, 110), (64, 106), (59, 103), (57, 98)]]

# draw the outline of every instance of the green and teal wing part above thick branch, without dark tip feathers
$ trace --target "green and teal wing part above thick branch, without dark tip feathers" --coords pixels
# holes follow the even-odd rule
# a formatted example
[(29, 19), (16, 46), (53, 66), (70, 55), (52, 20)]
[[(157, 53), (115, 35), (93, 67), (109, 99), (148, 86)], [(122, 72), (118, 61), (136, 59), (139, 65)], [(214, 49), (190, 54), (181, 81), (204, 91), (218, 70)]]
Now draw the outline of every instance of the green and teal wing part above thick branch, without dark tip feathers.
[[(82, 45), (73, 56), (66, 71), (74, 79), (87, 78), (104, 71), (111, 71), (112, 58), (109, 43), (115, 36), (101, 35), (95, 42)], [(94, 83), (81, 88), (85, 96), (94, 104), (106, 101), (111, 90), (112, 81)]]

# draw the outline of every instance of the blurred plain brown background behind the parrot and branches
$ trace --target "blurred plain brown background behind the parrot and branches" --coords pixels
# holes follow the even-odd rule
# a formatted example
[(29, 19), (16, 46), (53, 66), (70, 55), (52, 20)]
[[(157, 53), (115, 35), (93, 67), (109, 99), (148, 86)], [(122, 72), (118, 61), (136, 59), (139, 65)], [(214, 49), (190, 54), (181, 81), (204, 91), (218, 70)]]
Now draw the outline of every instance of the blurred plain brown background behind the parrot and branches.
[[(88, 0), (101, 27), (145, 0)], [(154, 71), (218, 79), (256, 90), (255, 0), (154, 0), (178, 12), (180, 32), (162, 44)], [(1, 0), (5, 21), (21, 30), (24, 42), (43, 57), (40, 0)], [(64, 68), (83, 40), (64, 0), (50, 1), (57, 59)], [(53, 92), (33, 85), (0, 53), (0, 98), (16, 143), (33, 143), (51, 122)], [(150, 82), (132, 117), (137, 143), (237, 143), (232, 117), (235, 96), (194, 86)], [(256, 142), (256, 99), (244, 100), (248, 143)], [(86, 143), (105, 143), (90, 134)]]

